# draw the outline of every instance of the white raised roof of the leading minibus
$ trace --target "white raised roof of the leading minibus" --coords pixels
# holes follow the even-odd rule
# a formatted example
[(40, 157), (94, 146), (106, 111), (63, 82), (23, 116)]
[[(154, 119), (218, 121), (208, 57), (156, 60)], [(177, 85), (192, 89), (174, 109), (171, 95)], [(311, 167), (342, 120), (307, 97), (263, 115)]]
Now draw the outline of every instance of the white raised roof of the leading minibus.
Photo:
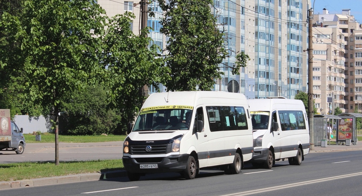
[(175, 91), (165, 93), (153, 93), (144, 102), (142, 108), (152, 106), (196, 106), (200, 104), (247, 105), (244, 94), (229, 93), (224, 91)]

